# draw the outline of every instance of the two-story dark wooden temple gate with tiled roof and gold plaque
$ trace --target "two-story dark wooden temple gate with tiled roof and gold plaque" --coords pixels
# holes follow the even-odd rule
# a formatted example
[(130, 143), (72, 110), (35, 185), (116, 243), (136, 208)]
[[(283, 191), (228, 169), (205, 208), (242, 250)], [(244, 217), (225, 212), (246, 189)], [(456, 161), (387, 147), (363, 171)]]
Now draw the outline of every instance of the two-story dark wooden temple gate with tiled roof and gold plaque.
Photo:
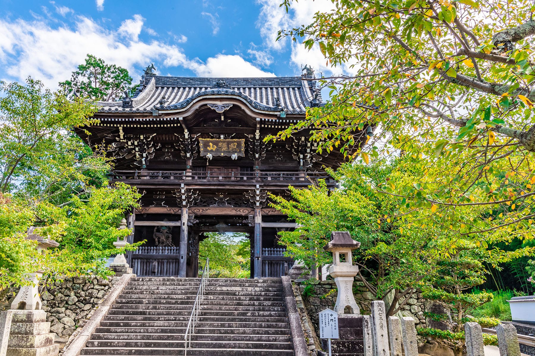
[(132, 98), (97, 102), (99, 123), (75, 130), (91, 147), (114, 147), (110, 182), (142, 194), (142, 207), (128, 216), (129, 242), (147, 240), (128, 255), (134, 273), (196, 276), (198, 243), (213, 231), (249, 234), (251, 277), (280, 276), (285, 262), (292, 265), (277, 233), (295, 223), (269, 206), (268, 193), (288, 196), (288, 185), (318, 179), (334, 187), (322, 165), (344, 161), (319, 155), (310, 130), (264, 140), (321, 105), (307, 78), (166, 77), (148, 69)]

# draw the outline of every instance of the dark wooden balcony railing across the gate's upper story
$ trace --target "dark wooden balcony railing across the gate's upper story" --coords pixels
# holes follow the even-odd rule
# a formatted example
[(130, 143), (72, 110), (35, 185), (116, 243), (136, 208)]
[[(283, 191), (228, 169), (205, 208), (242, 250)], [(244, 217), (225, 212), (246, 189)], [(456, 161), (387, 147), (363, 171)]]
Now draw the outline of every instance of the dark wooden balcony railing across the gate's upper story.
[[(142, 180), (142, 179), (164, 179), (176, 180), (250, 180), (250, 181), (309, 181), (309, 179), (331, 179), (326, 172), (187, 172), (187, 171), (149, 171), (135, 170), (124, 171), (115, 170), (110, 173), (111, 180)], [(139, 182), (147, 183), (147, 182)], [(273, 182), (274, 183), (274, 182)]]

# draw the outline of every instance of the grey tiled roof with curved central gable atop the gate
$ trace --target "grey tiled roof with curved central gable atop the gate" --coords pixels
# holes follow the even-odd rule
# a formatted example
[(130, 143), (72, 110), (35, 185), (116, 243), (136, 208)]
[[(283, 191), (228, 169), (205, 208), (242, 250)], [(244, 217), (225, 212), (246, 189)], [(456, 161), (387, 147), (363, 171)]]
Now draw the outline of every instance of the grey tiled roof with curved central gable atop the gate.
[[(144, 75), (133, 98), (97, 102), (99, 112), (148, 113), (187, 107), (203, 96), (234, 96), (264, 112), (304, 114), (306, 107), (322, 102), (312, 81), (302, 77), (206, 78)], [(279, 101), (277, 101), (277, 99)], [(131, 102), (130, 102), (131, 100)], [(130, 105), (131, 104), (131, 105)]]

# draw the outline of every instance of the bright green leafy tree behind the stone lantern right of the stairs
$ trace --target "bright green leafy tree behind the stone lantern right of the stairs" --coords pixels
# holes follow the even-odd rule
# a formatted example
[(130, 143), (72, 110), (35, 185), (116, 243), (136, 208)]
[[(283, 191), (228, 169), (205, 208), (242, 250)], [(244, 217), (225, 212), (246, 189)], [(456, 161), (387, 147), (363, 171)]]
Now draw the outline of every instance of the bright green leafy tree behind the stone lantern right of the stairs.
[(400, 311), (416, 289), (431, 288), (449, 298), (442, 301), (460, 313), (455, 320), (463, 320), (470, 310), (463, 300), (475, 298), (467, 292), (485, 281), (488, 268), (499, 270), (500, 263), (529, 256), (534, 249), (505, 250), (516, 236), (507, 231), (460, 234), (452, 228), (460, 221), (484, 224), (489, 217), (485, 205), (412, 207), (406, 196), (377, 192), (385, 181), (414, 187), (421, 170), (429, 170), (418, 160), (405, 155), (391, 163), (342, 165), (329, 171), (340, 180), (340, 189), (330, 191), (320, 181), (310, 189), (290, 187), (290, 200), (272, 196), (273, 207), (301, 225), (279, 234), (290, 254), (312, 266), (331, 263), (323, 246), (332, 231), (349, 231), (362, 243), (354, 255), (361, 267), (358, 278), (377, 297), (393, 296), (389, 315)]

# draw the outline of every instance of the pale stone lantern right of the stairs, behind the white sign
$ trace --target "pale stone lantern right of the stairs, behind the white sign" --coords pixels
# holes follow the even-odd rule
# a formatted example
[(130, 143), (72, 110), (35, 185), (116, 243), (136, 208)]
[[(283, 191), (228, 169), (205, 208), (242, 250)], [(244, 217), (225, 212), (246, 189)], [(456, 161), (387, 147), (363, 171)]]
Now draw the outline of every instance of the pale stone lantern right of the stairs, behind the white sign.
[(353, 296), (353, 279), (358, 273), (358, 266), (353, 265), (351, 251), (360, 247), (361, 243), (351, 239), (347, 231), (333, 231), (331, 239), (323, 249), (333, 253), (333, 265), (328, 272), (338, 287), (334, 311), (343, 314), (348, 307), (349, 314), (360, 315), (361, 310)]

